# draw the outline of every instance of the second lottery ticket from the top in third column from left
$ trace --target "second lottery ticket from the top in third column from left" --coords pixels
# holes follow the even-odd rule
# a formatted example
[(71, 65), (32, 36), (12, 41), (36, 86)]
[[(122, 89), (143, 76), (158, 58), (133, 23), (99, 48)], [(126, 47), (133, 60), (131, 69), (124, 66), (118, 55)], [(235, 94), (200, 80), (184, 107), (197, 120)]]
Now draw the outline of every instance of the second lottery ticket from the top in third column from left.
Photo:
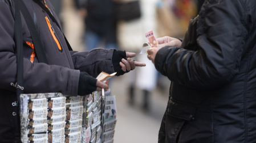
[(80, 120), (83, 115), (83, 106), (66, 109), (66, 121)]

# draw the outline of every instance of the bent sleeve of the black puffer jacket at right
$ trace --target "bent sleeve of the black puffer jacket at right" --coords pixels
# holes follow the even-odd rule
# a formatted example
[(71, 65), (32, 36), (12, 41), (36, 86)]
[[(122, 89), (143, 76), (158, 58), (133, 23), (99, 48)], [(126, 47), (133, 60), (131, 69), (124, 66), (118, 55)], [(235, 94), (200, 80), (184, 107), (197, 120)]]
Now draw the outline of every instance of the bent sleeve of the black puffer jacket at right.
[(245, 45), (246, 11), (241, 1), (205, 2), (197, 23), (197, 51), (164, 47), (156, 69), (171, 81), (194, 89), (214, 89), (238, 73)]

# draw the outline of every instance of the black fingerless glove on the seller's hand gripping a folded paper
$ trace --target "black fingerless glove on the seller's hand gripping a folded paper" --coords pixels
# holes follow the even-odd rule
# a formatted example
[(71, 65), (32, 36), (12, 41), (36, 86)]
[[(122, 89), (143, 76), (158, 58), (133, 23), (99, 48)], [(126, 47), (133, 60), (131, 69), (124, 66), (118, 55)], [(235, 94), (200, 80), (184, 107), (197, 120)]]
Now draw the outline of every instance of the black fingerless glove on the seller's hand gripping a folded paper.
[(96, 78), (91, 77), (91, 75), (86, 72), (80, 72), (78, 95), (88, 95), (94, 92), (97, 89), (96, 82)]

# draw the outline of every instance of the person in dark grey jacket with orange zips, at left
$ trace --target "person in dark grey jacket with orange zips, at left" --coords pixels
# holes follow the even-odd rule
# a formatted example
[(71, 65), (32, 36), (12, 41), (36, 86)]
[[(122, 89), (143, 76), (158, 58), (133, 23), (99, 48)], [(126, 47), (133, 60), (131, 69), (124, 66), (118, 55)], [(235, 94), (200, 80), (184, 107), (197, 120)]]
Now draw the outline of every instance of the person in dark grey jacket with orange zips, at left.
[[(23, 92), (25, 94), (62, 92), (66, 95), (87, 95), (92, 91), (107, 88), (97, 81), (100, 72), (122, 75), (145, 66), (134, 62), (135, 53), (116, 51), (116, 49), (97, 48), (92, 51), (69, 51), (63, 36), (59, 19), (49, 0), (36, 0), (46, 6), (52, 16), (33, 0), (23, 0), (35, 24), (43, 52), (48, 64), (38, 61), (30, 31), (21, 15), (23, 38)], [(14, 40), (15, 4), (13, 0), (0, 1), (0, 142), (19, 142), (19, 124), (16, 88), (11, 85), (17, 81), (17, 49)], [(125, 60), (127, 58), (127, 60)]]

